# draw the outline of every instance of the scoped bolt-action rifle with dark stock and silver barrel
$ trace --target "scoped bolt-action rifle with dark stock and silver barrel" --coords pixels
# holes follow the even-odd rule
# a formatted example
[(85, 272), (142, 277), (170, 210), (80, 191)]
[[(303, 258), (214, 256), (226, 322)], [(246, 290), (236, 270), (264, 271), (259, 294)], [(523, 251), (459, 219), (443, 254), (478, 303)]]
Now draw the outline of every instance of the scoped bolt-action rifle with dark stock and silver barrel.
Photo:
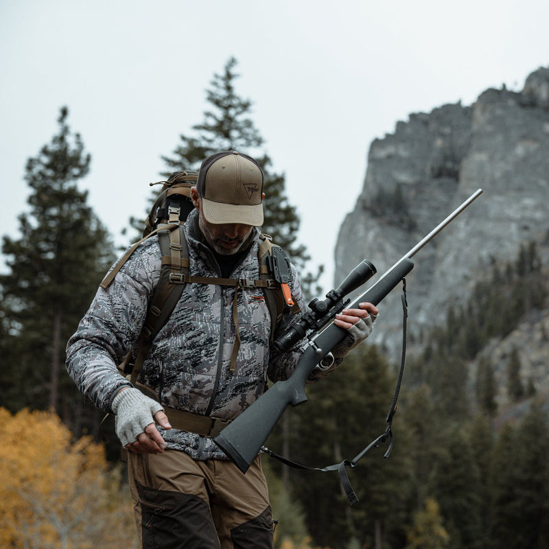
[(347, 335), (347, 330), (331, 323), (331, 319), (346, 307), (359, 308), (359, 304), (363, 302), (369, 301), (373, 305), (377, 305), (382, 301), (414, 267), (410, 258), (440, 233), (480, 194), (482, 194), (482, 189), (478, 189), (467, 198), (406, 255), (386, 270), (375, 284), (360, 294), (350, 307), (348, 307), (350, 300), (344, 301), (343, 297), (375, 274), (375, 267), (366, 259), (362, 260), (349, 273), (336, 290), (328, 292), (325, 300), (314, 299), (309, 303), (311, 311), (290, 325), (282, 336), (273, 342), (274, 347), (279, 351), (287, 351), (307, 333), (313, 334), (307, 338), (305, 351), (303, 351), (292, 375), (285, 381), (274, 383), (266, 393), (248, 406), (240, 416), (213, 439), (242, 473), (246, 473), (288, 405), (297, 406), (307, 400), (305, 383), (309, 374), (318, 366), (320, 360)]

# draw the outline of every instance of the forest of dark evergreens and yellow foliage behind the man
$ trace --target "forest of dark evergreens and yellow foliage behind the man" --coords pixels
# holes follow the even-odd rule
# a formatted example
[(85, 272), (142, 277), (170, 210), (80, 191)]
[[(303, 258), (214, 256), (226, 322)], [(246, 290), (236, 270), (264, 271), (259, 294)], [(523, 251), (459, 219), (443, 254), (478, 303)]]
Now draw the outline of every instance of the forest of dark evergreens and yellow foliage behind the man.
[[(284, 175), (264, 152), (250, 100), (235, 92), (236, 65), (230, 58), (213, 75), (208, 112), (165, 152), (159, 176), (197, 170), (218, 150), (253, 154), (265, 172), (263, 231), (288, 252), (312, 299), (321, 268), (309, 270)], [(17, 235), (1, 244), (0, 546), (137, 547), (113, 418), (102, 423), (65, 369), (67, 340), (121, 250), (84, 190), (93, 150), (71, 127), (70, 106), (56, 116), (56, 134), (22, 167), (27, 205)], [(128, 220), (128, 245), (149, 208)], [(515, 261), (485, 272), (445, 323), (414, 342), (389, 455), (386, 439), (347, 468), (357, 504), (337, 471), (263, 457), (277, 548), (549, 547), (546, 395), (521, 375), (518, 348), (504, 364), (481, 352), (524, 314), (548, 307), (548, 249), (549, 235), (525, 242)], [(353, 460), (385, 432), (398, 373), (382, 349), (359, 345), (327, 379), (307, 385), (307, 403), (286, 410), (266, 445), (318, 469)], [(513, 414), (498, 406), (498, 390)]]

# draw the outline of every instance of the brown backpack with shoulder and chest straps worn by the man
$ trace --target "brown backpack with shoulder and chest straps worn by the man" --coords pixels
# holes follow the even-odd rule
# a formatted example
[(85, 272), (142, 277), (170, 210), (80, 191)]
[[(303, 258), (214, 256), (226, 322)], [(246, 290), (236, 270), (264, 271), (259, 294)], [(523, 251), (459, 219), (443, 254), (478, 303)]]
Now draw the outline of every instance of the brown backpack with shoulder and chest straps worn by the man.
[[(191, 187), (196, 183), (197, 178), (198, 172), (174, 172), (170, 178), (161, 182), (163, 187), (145, 220), (143, 238), (128, 248), (100, 283), (101, 288), (108, 288), (115, 279), (117, 272), (124, 266), (139, 245), (152, 235), (158, 234), (162, 257), (159, 283), (150, 299), (141, 334), (139, 334), (139, 338), (137, 338), (132, 349), (128, 351), (124, 361), (118, 366), (120, 373), (130, 379), (130, 382), (141, 388), (141, 390), (147, 389), (137, 383), (137, 377), (141, 373), (143, 362), (147, 358), (156, 334), (170, 318), (176, 303), (183, 294), (185, 284), (232, 285), (237, 287), (237, 291), (238, 288), (264, 288), (266, 290), (266, 305), (272, 320), (270, 342), (274, 340), (274, 332), (277, 330), (285, 310), (289, 308), (292, 314), (296, 314), (300, 310), (299, 305), (294, 303), (288, 286), (291, 279), (290, 260), (280, 246), (272, 243), (270, 236), (261, 232), (259, 233), (260, 244), (257, 253), (260, 279), (220, 279), (189, 276), (189, 253), (183, 224), (187, 219), (187, 215), (194, 209), (190, 194)], [(154, 183), (151, 183), (151, 185), (154, 185)], [(235, 305), (236, 301), (235, 298)], [(231, 358), (231, 370), (235, 368), (236, 355), (240, 347), (236, 307), (233, 310), (233, 318), (235, 318), (237, 327), (237, 340)], [(152, 396), (150, 391), (147, 394)]]

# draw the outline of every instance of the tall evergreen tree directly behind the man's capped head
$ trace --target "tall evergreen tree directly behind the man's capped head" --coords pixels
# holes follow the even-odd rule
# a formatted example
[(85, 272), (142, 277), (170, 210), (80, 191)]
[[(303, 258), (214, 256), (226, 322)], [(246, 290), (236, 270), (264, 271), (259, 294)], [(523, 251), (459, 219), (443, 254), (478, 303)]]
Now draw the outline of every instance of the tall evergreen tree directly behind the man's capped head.
[[(207, 90), (210, 108), (204, 120), (192, 127), (194, 135), (180, 135), (180, 143), (173, 156), (162, 156), (170, 172), (198, 170), (202, 160), (222, 150), (237, 150), (253, 156), (264, 171), (264, 214), (261, 231), (271, 235), (292, 258), (296, 266), (303, 267), (309, 259), (303, 245), (297, 244), (299, 217), (285, 196), (285, 177), (272, 172), (268, 154), (259, 152), (264, 139), (250, 118), (252, 102), (235, 91), (237, 60), (229, 58), (222, 74), (215, 74)], [(318, 277), (317, 277), (318, 278)]]

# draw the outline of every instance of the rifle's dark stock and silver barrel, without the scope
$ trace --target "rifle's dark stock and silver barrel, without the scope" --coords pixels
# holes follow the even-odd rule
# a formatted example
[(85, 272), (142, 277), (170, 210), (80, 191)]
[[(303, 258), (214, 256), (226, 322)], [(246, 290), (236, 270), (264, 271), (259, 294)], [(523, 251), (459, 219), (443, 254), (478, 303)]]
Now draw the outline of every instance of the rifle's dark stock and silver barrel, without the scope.
[[(370, 302), (377, 305), (395, 286), (406, 277), (414, 266), (410, 257), (438, 234), (450, 221), (465, 209), (482, 193), (478, 189), (468, 200), (450, 214), (441, 224), (421, 240), (408, 254), (388, 269), (382, 277), (362, 293), (348, 308), (358, 308), (360, 303)], [(347, 335), (347, 330), (333, 323), (321, 329), (318, 334), (309, 338), (309, 344), (292, 375), (285, 381), (276, 382), (240, 416), (227, 425), (213, 441), (233, 460), (235, 465), (246, 473), (248, 467), (261, 450), (274, 425), (277, 424), (284, 410), (291, 404), (297, 406), (307, 400), (305, 383), (318, 362), (325, 357)]]

